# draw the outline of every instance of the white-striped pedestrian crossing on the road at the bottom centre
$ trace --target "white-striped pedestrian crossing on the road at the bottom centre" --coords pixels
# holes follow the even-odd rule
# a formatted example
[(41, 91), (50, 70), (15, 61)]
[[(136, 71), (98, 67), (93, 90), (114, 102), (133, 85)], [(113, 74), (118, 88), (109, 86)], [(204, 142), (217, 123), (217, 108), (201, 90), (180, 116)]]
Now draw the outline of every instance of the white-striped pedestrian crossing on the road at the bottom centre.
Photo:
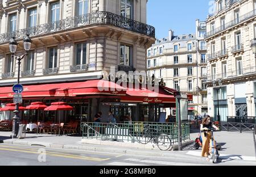
[[(125, 161), (125, 162), (123, 162)], [(186, 163), (186, 162), (170, 162), (170, 161), (154, 161), (147, 159), (134, 159), (128, 158), (124, 159), (122, 162), (111, 162), (107, 165), (109, 166), (209, 166), (207, 164), (199, 163)]]

